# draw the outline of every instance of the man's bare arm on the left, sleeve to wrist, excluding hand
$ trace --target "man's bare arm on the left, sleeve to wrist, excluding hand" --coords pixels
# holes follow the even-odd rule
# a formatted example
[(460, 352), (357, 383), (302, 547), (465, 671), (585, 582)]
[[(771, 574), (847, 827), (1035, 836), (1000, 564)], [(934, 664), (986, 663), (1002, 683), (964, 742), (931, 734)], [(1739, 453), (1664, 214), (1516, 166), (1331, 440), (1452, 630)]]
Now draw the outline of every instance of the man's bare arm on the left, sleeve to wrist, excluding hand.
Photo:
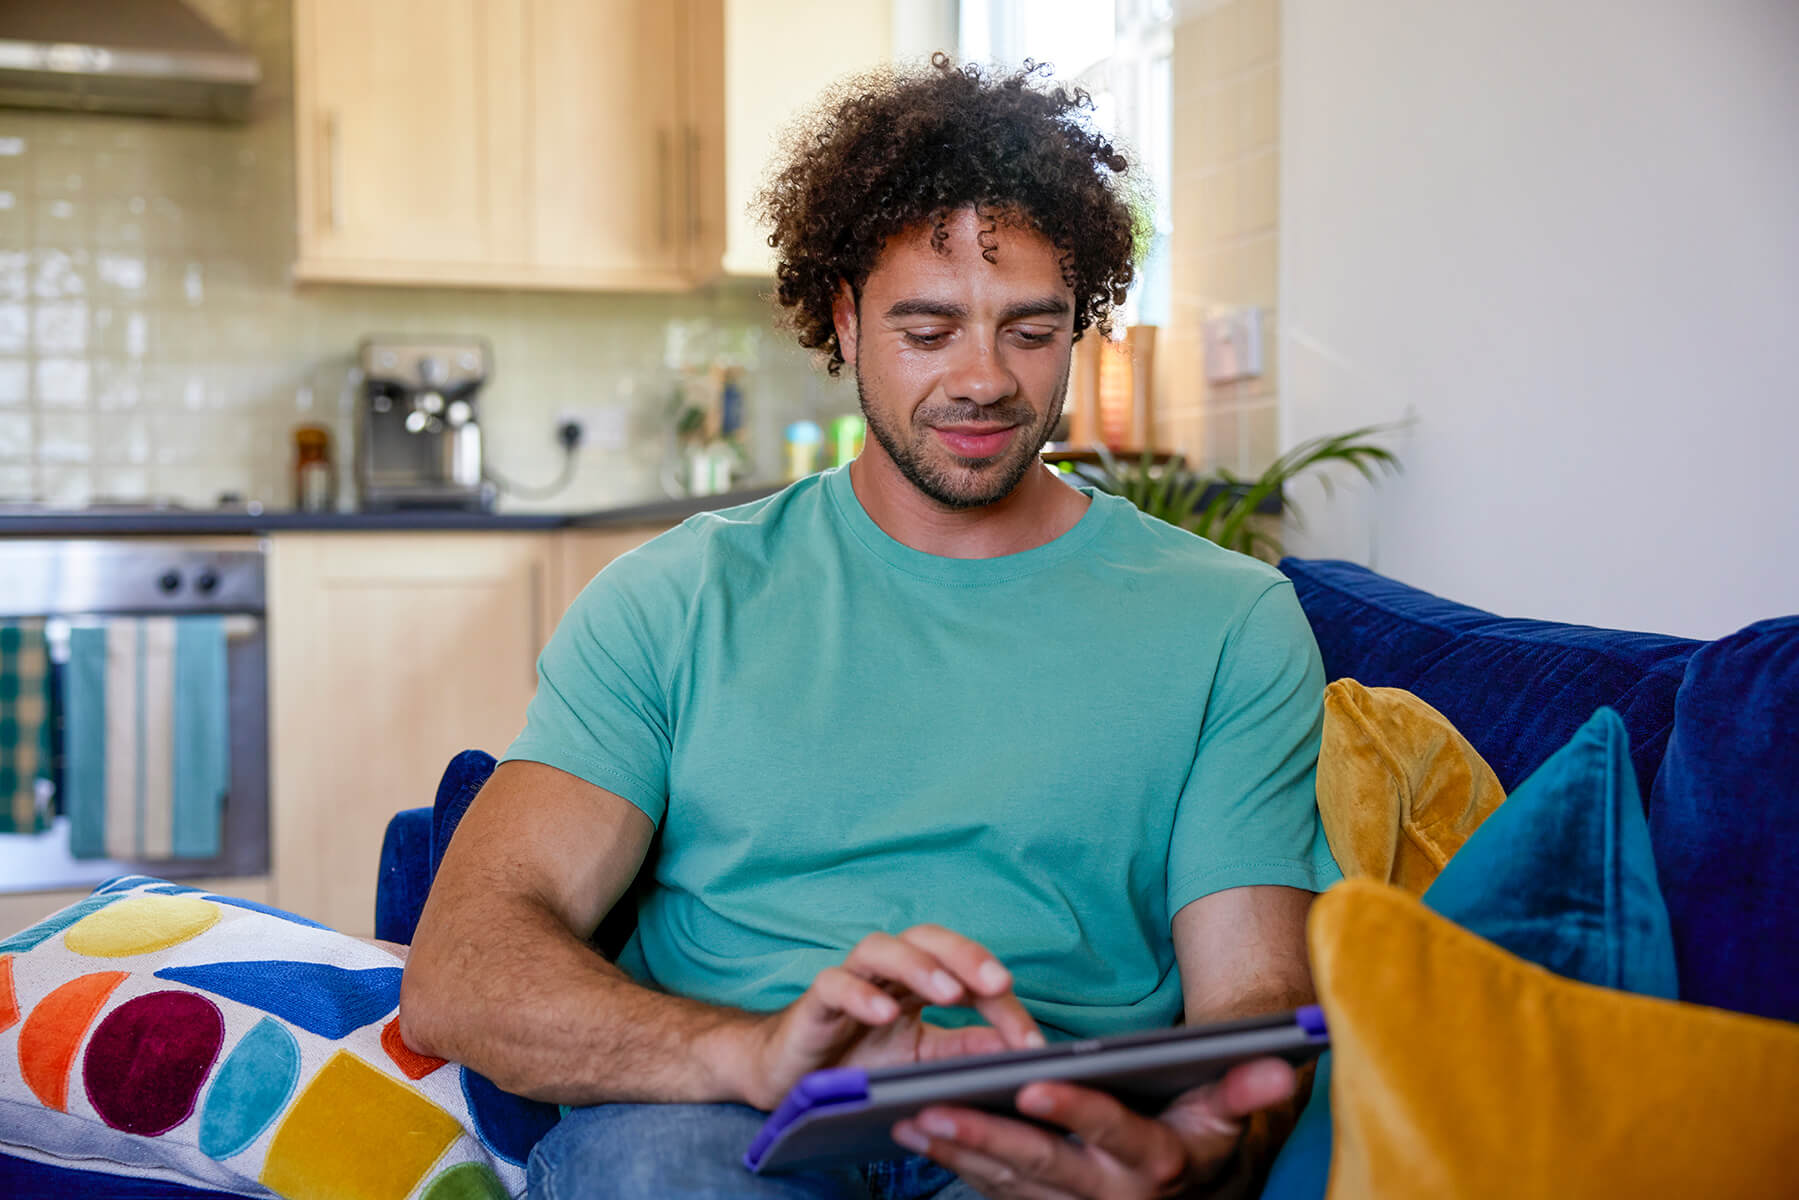
[(651, 835), (612, 792), (540, 763), (498, 766), (419, 918), (399, 990), (407, 1043), (565, 1105), (741, 1099), (756, 1018), (642, 988), (585, 941)]

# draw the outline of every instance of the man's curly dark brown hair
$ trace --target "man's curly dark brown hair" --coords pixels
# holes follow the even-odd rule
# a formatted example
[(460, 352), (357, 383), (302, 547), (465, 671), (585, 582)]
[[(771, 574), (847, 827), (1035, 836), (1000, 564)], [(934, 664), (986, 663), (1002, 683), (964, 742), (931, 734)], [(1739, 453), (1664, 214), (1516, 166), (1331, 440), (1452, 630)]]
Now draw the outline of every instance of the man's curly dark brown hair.
[[(844, 365), (831, 300), (847, 281), (860, 297), (894, 234), (973, 207), (989, 221), (1036, 230), (1061, 252), (1074, 291), (1074, 335), (1110, 333), (1112, 308), (1135, 277), (1135, 178), (1085, 113), (1081, 88), (1025, 63), (1000, 74), (935, 54), (930, 67), (885, 67), (833, 88), (797, 122), (784, 158), (756, 198), (774, 228), (775, 300), (801, 345)], [(982, 254), (995, 245), (982, 236)]]

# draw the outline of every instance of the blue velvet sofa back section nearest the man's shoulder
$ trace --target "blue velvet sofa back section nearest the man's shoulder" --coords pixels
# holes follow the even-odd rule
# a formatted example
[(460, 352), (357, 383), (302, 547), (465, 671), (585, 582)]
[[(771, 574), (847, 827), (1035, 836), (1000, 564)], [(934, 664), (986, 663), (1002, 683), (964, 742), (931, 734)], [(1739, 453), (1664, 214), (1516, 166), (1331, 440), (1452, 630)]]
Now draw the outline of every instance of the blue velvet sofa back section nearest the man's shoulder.
[(1517, 621), (1421, 592), (1356, 563), (1281, 561), (1328, 678), (1403, 687), (1443, 712), (1506, 792), (1599, 705), (1630, 732), (1644, 797), (1668, 748), (1675, 693), (1704, 644), (1553, 621)]

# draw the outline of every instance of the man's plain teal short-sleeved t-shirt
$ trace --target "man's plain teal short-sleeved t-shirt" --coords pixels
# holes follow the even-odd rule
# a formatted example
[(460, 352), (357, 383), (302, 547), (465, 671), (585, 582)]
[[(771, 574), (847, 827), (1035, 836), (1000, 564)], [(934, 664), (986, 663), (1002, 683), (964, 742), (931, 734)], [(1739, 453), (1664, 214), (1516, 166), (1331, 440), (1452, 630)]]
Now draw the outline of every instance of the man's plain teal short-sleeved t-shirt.
[(1177, 910), (1338, 878), (1292, 585), (1105, 493), (1047, 545), (953, 560), (826, 471), (610, 563), (538, 673), (506, 757), (657, 822), (621, 966), (698, 1000), (777, 1009), (932, 921), (1051, 1036), (1162, 1027)]

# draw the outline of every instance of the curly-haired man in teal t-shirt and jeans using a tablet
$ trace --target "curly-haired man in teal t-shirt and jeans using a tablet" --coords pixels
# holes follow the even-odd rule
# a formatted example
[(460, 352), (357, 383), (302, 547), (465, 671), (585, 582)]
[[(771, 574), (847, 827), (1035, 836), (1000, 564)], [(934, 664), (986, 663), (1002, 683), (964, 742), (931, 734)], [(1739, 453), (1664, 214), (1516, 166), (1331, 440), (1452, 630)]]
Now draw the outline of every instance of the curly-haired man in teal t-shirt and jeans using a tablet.
[[(813, 1069), (1310, 999), (1337, 873), (1292, 588), (1038, 459), (1132, 279), (1083, 104), (943, 59), (865, 79), (765, 194), (779, 299), (855, 369), (869, 444), (581, 594), (407, 966), (408, 1043), (577, 1105), (534, 1191), (1205, 1195), (1292, 1096), (1277, 1061), (1159, 1119), (1033, 1085), (1042, 1124), (939, 1108), (894, 1130), (921, 1157), (738, 1166)], [(655, 835), (606, 963), (585, 939)]]

